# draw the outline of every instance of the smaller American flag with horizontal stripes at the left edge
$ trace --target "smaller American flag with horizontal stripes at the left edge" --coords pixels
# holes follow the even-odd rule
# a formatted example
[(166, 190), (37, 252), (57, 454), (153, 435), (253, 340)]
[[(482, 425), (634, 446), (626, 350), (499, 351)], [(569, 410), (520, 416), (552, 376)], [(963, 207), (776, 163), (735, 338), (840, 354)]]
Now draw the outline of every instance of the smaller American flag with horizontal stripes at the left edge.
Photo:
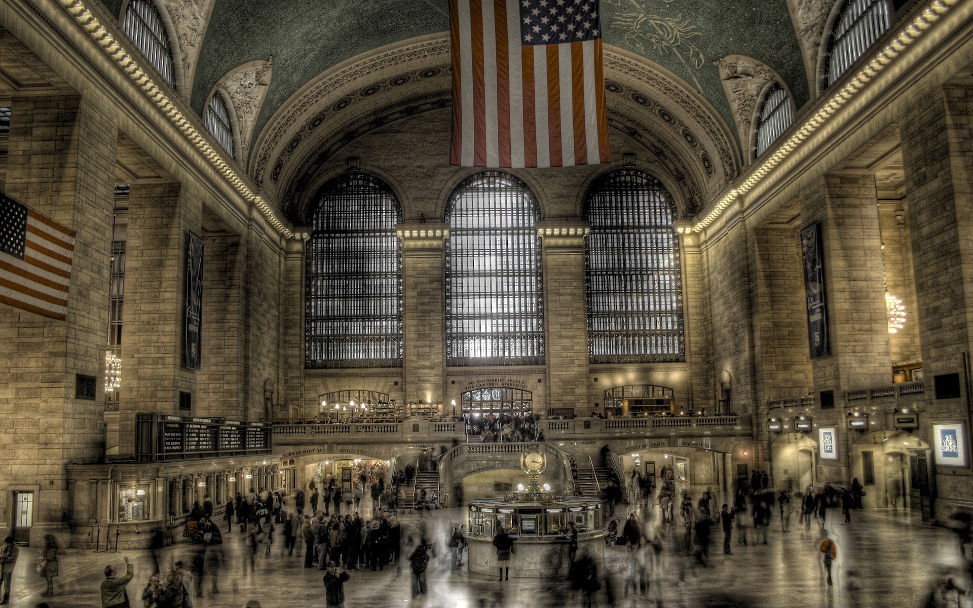
[(0, 303), (67, 318), (74, 235), (0, 193)]

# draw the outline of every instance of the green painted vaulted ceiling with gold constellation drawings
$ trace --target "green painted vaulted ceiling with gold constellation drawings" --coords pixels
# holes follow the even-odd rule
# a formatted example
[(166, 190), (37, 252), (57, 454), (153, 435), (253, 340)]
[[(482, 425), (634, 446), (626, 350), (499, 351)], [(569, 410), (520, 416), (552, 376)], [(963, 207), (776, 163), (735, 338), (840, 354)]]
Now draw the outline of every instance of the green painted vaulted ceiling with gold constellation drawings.
[[(114, 15), (121, 0), (102, 0)], [(234, 67), (273, 55), (254, 138), (296, 90), (348, 57), (449, 28), (448, 0), (217, 0), (203, 40), (192, 104)], [(744, 54), (786, 81), (797, 107), (808, 84), (786, 0), (601, 0), (606, 44), (655, 61), (736, 125), (713, 61)]]

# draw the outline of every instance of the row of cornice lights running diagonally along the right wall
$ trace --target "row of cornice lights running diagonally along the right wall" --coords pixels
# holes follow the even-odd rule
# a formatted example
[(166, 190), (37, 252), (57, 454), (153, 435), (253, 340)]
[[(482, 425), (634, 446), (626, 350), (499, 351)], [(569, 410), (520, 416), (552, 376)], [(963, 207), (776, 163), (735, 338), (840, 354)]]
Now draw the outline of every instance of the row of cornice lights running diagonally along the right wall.
[(897, 36), (892, 38), (891, 42), (885, 45), (882, 51), (876, 54), (861, 71), (855, 74), (854, 78), (850, 79), (844, 87), (824, 102), (820, 109), (800, 129), (795, 131), (787, 141), (778, 146), (771, 158), (761, 162), (760, 166), (752, 170), (750, 176), (742, 184), (731, 189), (730, 192), (720, 198), (703, 220), (697, 222), (692, 228), (679, 228), (676, 229), (676, 232), (700, 232), (712, 224), (723, 213), (724, 209), (759, 184), (765, 175), (770, 173), (776, 165), (780, 164), (792, 152), (797, 150), (805, 139), (811, 137), (814, 131), (827, 123), (842, 106), (847, 104), (861, 89), (864, 89), (865, 85), (878, 76), (897, 56), (919, 40), (926, 30), (932, 27), (936, 21), (945, 17), (960, 1), (935, 0), (929, 3), (919, 12), (916, 18), (910, 21), (904, 29), (899, 31)]

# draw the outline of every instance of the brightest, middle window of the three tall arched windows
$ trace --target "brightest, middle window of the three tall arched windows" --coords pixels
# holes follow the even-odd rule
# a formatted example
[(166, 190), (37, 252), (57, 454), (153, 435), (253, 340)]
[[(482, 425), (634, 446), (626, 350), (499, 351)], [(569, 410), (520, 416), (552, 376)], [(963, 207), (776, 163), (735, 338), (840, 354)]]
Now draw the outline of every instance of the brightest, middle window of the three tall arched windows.
[(544, 363), (539, 218), (533, 194), (506, 173), (479, 173), (452, 193), (447, 365)]

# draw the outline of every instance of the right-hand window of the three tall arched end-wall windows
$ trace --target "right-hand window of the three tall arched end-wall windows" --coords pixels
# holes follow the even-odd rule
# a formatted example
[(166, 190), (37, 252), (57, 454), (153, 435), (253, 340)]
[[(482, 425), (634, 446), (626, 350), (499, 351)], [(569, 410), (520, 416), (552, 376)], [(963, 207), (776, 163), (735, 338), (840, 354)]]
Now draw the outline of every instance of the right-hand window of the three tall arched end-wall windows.
[(674, 205), (654, 177), (608, 175), (586, 203), (591, 363), (683, 361), (682, 279)]

